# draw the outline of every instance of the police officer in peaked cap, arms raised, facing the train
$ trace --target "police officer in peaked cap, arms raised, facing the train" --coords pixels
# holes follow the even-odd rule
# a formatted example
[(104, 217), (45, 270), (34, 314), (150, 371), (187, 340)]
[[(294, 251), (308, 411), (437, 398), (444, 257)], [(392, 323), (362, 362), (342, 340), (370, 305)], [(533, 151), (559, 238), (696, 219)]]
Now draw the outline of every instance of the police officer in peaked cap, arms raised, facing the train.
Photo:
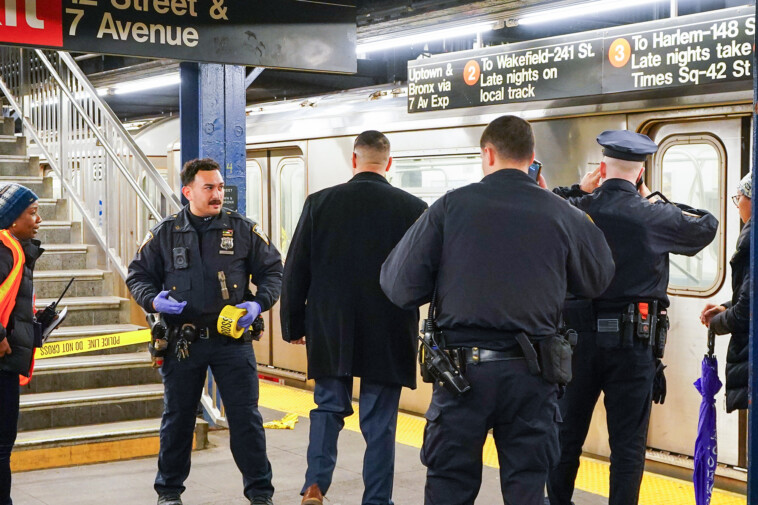
[[(662, 356), (668, 324), (669, 254), (697, 254), (718, 227), (707, 211), (672, 204), (641, 182), (645, 160), (658, 150), (647, 136), (605, 131), (597, 141), (603, 146), (600, 166), (580, 184), (554, 190), (603, 230), (616, 273), (600, 296), (586, 300), (572, 293), (579, 298), (568, 300), (564, 310), (566, 324), (579, 338), (574, 376), (561, 400), (561, 456), (550, 473), (551, 505), (571, 503), (579, 456), (601, 391), (611, 447), (609, 503), (637, 503), (654, 379), (665, 381), (656, 356)], [(663, 401), (665, 382), (655, 395)]]

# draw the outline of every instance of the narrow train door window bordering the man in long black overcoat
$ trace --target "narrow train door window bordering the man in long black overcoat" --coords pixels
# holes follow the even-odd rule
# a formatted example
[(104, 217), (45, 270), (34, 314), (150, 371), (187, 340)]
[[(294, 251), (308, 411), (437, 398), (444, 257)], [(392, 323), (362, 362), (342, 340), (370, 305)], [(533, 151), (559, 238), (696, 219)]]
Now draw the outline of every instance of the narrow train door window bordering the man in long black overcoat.
[(286, 255), (305, 203), (305, 163), (301, 158), (284, 158), (279, 163), (279, 250)]

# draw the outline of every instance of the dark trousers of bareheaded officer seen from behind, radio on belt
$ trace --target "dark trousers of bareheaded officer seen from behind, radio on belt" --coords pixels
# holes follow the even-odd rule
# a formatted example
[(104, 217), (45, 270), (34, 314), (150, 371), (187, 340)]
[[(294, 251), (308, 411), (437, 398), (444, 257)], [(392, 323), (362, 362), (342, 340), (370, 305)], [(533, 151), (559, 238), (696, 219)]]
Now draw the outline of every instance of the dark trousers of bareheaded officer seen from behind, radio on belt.
[(454, 396), (435, 384), (421, 462), (426, 505), (472, 505), (482, 483), (482, 448), (493, 430), (506, 505), (543, 505), (558, 458), (558, 388), (523, 359), (468, 365), (471, 390)]

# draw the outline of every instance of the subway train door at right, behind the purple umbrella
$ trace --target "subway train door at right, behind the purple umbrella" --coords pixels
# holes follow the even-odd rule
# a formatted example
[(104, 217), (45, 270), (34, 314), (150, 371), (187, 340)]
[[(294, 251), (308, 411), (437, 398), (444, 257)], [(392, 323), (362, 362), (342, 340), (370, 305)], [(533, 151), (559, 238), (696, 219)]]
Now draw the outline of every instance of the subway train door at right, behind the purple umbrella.
[[(706, 303), (731, 298), (729, 258), (740, 232), (737, 209), (729, 197), (747, 172), (750, 122), (733, 116), (698, 121), (661, 121), (646, 132), (658, 145), (648, 181), (671, 201), (706, 209), (719, 220), (714, 241), (695, 256), (670, 256), (668, 296), (671, 327), (663, 359), (668, 394), (654, 405), (648, 446), (657, 451), (692, 456), (700, 394), (693, 382), (700, 376), (707, 351), (707, 330), (699, 314)], [(719, 377), (724, 381), (727, 335), (717, 337)], [(716, 397), (720, 463), (744, 465), (739, 415), (727, 414), (724, 390)], [(744, 431), (744, 430), (742, 430)]]

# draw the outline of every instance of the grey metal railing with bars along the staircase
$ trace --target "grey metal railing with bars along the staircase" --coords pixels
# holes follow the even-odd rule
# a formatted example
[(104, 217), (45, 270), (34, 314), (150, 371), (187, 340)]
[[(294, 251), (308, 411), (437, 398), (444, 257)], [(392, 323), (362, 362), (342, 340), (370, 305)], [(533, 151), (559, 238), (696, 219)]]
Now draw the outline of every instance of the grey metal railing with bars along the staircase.
[(0, 48), (0, 89), (125, 279), (151, 222), (179, 198), (69, 54)]

